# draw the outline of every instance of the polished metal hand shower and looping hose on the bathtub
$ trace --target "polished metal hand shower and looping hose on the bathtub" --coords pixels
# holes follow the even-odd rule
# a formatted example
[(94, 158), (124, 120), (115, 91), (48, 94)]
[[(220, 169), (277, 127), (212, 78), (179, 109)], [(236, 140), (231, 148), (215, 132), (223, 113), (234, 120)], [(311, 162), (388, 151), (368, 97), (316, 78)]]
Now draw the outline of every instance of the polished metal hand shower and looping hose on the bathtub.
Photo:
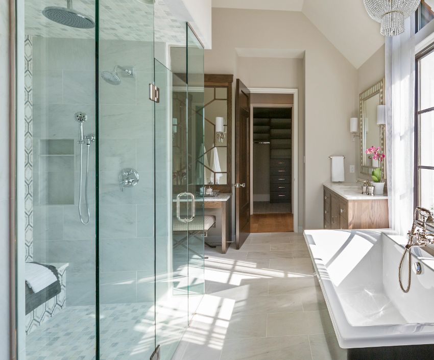
[[(420, 219), (422, 217), (422, 219)], [(426, 223), (433, 222), (431, 212), (425, 208), (417, 207), (413, 214), (413, 226), (412, 229), (409, 230), (408, 242), (405, 245), (404, 252), (401, 257), (401, 261), (399, 262), (398, 267), (398, 278), (399, 278), (399, 286), (404, 293), (408, 293), (410, 290), (410, 285), (412, 281), (412, 247), (423, 247), (429, 244), (434, 244), (434, 233), (427, 232)], [(401, 280), (401, 268), (402, 263), (404, 262), (405, 253), (408, 251), (408, 283), (407, 287), (404, 289)]]

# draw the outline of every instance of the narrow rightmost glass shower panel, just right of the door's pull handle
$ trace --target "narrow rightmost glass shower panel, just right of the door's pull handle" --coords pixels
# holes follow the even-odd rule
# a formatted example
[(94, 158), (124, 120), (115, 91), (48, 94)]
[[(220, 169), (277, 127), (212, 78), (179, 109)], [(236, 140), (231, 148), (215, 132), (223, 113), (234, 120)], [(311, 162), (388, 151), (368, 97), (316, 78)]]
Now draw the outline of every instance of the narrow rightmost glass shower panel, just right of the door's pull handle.
[(188, 231), (188, 319), (195, 314), (205, 292), (204, 275), (204, 50), (187, 31), (188, 191), (196, 195), (196, 216)]

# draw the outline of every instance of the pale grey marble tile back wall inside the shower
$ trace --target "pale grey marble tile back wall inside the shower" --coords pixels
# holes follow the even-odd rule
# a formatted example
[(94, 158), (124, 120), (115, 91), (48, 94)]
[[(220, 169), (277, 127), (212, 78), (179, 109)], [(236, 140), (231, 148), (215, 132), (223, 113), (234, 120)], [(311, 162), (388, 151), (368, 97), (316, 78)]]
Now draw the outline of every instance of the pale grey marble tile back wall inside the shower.
[[(67, 305), (94, 303), (95, 294), (95, 147), (89, 162), (91, 220), (78, 216), (79, 155), (77, 111), (88, 115), (85, 134), (95, 132), (94, 41), (38, 38), (33, 40), (34, 182), (41, 177), (40, 139), (74, 139), (75, 161), (50, 164), (52, 173), (74, 173), (69, 181), (51, 185), (52, 191), (74, 189), (73, 203), (46, 204), (35, 195), (34, 259), (68, 262)], [(100, 71), (115, 65), (134, 66), (135, 77), (119, 85), (100, 81), (100, 298), (102, 303), (151, 301), (154, 273), (154, 124), (148, 84), (153, 80), (152, 43), (100, 42)], [(101, 78), (100, 78), (101, 79)], [(118, 175), (135, 168), (140, 181), (120, 190)], [(39, 172), (38, 172), (39, 171)], [(42, 175), (45, 175), (46, 172)], [(157, 178), (165, 182), (166, 178)], [(56, 189), (59, 187), (59, 189)], [(41, 189), (35, 184), (35, 188)], [(44, 195), (42, 196), (44, 200)], [(165, 194), (156, 198), (166, 201)], [(38, 202), (39, 201), (39, 202)]]

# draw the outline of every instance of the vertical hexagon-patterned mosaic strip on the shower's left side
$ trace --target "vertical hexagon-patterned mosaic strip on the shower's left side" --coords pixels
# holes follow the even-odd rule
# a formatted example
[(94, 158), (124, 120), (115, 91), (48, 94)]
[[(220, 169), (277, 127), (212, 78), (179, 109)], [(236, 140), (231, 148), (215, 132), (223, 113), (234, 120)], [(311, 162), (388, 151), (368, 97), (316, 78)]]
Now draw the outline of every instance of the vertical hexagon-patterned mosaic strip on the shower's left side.
[(24, 41), (24, 183), (26, 187), (24, 197), (25, 227), (25, 259), (33, 261), (33, 45), (32, 38), (26, 35)]

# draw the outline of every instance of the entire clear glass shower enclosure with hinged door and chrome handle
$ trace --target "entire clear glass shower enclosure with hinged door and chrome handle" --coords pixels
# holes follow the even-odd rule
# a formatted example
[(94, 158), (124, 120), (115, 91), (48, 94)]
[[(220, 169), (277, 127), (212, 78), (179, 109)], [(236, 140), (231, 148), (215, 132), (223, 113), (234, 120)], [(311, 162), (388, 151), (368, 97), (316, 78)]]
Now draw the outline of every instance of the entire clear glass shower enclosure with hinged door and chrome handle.
[(20, 360), (170, 359), (202, 298), (203, 46), (169, 3), (16, 2)]

